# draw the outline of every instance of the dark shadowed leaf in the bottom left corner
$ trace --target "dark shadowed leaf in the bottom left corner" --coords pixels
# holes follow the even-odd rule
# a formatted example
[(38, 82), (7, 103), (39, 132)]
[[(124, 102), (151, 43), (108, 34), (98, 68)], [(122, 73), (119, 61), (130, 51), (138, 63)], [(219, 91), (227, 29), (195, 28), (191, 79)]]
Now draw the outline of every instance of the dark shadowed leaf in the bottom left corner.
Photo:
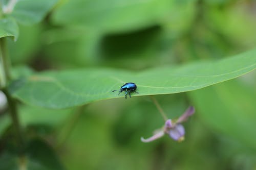
[(0, 169), (58, 170), (63, 169), (53, 149), (39, 139), (29, 143), (25, 156), (5, 151), (0, 155)]

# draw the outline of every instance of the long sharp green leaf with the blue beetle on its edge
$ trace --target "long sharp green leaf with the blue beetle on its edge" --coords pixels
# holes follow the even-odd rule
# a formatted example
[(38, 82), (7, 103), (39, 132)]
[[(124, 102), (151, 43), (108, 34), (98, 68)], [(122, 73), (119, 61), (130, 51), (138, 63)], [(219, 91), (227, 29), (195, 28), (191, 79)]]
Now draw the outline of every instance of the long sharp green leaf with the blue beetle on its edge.
[(137, 84), (139, 95), (169, 94), (200, 89), (239, 77), (256, 67), (256, 50), (216, 62), (161, 67), (142, 72), (92, 68), (46, 71), (12, 83), (12, 95), (31, 105), (68, 108), (90, 102), (123, 98), (118, 90)]

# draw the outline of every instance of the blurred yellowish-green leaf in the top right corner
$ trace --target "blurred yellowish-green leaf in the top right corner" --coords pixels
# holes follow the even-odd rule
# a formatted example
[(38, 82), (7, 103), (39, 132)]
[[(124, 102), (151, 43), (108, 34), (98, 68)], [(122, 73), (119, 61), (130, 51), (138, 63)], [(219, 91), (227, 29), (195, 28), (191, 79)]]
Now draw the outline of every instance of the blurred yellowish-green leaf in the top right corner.
[[(241, 1), (228, 8), (211, 8), (206, 13), (207, 24), (216, 33), (223, 34), (239, 47), (254, 47), (256, 29), (254, 6), (255, 2)], [(243, 49), (243, 48), (242, 48)]]

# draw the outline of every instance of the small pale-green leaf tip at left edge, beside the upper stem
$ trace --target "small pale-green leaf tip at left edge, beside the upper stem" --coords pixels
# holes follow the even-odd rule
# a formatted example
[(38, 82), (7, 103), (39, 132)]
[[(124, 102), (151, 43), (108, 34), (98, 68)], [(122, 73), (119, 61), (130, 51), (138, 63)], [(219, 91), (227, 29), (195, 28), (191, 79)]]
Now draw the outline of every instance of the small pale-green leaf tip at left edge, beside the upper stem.
[(14, 41), (18, 38), (17, 22), (9, 17), (0, 19), (0, 38), (8, 36), (13, 37)]

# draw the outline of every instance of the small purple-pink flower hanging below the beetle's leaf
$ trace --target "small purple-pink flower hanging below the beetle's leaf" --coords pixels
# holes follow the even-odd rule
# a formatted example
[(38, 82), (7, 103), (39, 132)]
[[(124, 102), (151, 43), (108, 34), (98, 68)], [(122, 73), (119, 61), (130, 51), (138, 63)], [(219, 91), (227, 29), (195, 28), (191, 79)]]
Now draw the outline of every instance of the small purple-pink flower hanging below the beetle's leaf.
[(166, 120), (165, 125), (162, 129), (154, 132), (154, 135), (150, 138), (144, 139), (141, 137), (142, 142), (151, 142), (162, 137), (164, 134), (169, 135), (177, 141), (184, 140), (185, 129), (181, 123), (185, 122), (187, 118), (195, 113), (195, 108), (190, 106), (176, 121), (171, 119)]

